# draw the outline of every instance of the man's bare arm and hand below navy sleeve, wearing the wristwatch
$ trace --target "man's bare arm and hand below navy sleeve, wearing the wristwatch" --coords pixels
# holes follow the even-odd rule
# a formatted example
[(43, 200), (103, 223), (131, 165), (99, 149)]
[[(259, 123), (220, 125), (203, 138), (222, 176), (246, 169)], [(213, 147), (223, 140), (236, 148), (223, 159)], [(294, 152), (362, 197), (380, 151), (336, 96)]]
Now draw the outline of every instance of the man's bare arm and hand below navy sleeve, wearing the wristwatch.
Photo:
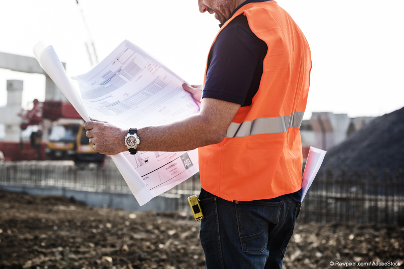
[[(219, 143), (240, 105), (206, 98), (199, 114), (163, 126), (140, 128), (139, 151), (185, 151)], [(132, 128), (137, 128), (135, 125)], [(123, 130), (107, 122), (89, 121), (86, 135), (95, 151), (114, 155), (127, 150)]]

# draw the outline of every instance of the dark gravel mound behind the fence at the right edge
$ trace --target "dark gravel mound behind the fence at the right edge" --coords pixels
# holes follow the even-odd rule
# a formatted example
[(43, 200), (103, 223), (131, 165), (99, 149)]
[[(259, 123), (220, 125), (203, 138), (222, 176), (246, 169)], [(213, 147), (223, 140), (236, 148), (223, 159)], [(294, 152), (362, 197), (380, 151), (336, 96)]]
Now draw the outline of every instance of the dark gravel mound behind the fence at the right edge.
[(385, 114), (330, 149), (322, 170), (404, 169), (404, 108)]

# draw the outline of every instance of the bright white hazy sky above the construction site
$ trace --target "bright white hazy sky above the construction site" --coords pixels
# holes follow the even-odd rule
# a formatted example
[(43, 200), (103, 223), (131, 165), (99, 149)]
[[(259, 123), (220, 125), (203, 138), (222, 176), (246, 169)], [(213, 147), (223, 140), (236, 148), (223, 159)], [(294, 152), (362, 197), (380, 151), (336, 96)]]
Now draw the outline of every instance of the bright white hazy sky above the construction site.
[[(312, 112), (380, 116), (404, 106), (403, 0), (278, 0), (309, 41), (313, 69), (305, 119)], [(33, 57), (38, 41), (52, 44), (68, 75), (91, 67), (81, 16), (99, 60), (124, 39), (142, 47), (191, 84), (202, 84), (206, 56), (218, 31), (197, 0), (1, 0), (0, 51)], [(44, 100), (43, 75), (0, 69), (24, 80), (22, 105)]]

